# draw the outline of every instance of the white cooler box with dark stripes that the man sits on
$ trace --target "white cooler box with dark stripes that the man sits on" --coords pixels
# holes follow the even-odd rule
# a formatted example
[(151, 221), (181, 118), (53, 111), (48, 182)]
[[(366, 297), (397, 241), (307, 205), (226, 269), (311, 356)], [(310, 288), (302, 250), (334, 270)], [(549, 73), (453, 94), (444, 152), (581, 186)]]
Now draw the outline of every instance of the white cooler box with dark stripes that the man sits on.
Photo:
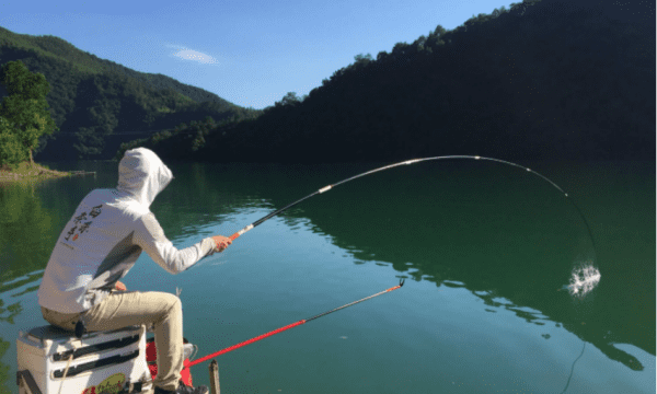
[(16, 347), (20, 394), (145, 393), (152, 386), (145, 326), (89, 333), (78, 339), (48, 325), (21, 332)]

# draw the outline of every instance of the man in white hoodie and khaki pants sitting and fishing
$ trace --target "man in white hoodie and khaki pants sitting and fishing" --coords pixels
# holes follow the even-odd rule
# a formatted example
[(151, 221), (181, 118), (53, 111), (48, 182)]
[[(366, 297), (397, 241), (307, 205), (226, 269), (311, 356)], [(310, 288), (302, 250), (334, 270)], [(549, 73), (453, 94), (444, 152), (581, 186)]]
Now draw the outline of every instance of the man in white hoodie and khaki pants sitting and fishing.
[(177, 274), (231, 244), (230, 239), (217, 235), (180, 251), (173, 246), (149, 210), (171, 179), (171, 171), (152, 151), (127, 151), (118, 164), (118, 186), (91, 192), (59, 235), (38, 303), (46, 321), (70, 331), (78, 321), (89, 331), (154, 324), (154, 393), (203, 394), (208, 392), (206, 386), (192, 389), (178, 382), (184, 357), (180, 299), (164, 292), (113, 291), (125, 290), (118, 279), (141, 251)]

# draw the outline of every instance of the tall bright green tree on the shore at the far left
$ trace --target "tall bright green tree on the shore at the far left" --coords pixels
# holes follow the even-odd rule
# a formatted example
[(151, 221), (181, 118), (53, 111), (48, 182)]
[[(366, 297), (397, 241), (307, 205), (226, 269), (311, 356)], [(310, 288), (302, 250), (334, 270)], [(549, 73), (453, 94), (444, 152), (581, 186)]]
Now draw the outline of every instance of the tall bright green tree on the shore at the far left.
[(28, 153), (30, 163), (34, 163), (32, 152), (38, 147), (38, 138), (58, 129), (46, 102), (50, 84), (44, 74), (30, 72), (20, 60), (2, 66), (0, 83), (9, 93), (0, 103), (0, 116), (5, 119), (3, 127), (11, 127), (11, 134)]

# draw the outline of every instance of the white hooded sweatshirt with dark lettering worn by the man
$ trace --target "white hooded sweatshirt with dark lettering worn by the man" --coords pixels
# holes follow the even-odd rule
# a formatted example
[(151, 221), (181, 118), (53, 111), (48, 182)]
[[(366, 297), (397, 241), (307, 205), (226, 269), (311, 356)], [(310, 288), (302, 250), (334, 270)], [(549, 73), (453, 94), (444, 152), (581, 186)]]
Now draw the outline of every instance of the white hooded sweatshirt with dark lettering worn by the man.
[(171, 179), (171, 171), (152, 151), (127, 151), (118, 164), (118, 186), (87, 195), (59, 235), (38, 303), (60, 313), (90, 310), (132, 268), (141, 251), (171, 274), (212, 254), (211, 237), (175, 248), (149, 210)]

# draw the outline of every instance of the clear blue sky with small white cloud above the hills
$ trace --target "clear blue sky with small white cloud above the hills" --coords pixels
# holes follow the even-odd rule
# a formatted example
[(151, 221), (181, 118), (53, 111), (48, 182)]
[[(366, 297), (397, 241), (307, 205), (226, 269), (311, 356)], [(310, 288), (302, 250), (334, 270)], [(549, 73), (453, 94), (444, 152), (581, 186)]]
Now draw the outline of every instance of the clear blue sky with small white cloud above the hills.
[(3, 0), (0, 26), (58, 36), (100, 58), (260, 109), (287, 92), (307, 94), (358, 54), (376, 58), (438, 24), (451, 30), (511, 2)]

